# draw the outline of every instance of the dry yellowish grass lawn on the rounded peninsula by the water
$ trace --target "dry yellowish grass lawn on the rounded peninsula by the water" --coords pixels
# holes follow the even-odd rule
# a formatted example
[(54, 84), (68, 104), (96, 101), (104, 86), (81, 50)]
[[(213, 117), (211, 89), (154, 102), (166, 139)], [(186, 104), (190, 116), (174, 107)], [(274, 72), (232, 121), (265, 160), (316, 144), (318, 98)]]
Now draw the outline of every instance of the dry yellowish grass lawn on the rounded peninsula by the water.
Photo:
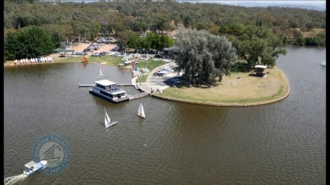
[[(252, 73), (249, 72), (234, 72), (231, 73), (231, 77), (223, 77), (221, 82), (217, 82), (210, 89), (205, 89), (204, 86), (170, 87), (157, 95), (183, 101), (214, 104), (261, 103), (287, 95), (289, 87), (285, 74), (277, 68), (267, 69), (267, 71), (269, 73), (265, 78), (250, 76)], [(242, 78), (237, 79), (237, 76)]]

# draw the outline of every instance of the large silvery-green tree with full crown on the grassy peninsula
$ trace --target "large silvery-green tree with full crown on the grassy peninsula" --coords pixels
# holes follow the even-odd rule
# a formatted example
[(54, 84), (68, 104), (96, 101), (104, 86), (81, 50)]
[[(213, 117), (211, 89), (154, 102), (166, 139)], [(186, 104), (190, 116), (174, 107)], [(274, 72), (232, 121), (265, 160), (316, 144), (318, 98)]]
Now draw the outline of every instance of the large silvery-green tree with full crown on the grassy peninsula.
[(177, 71), (183, 71), (186, 81), (211, 84), (216, 77), (230, 74), (236, 49), (225, 37), (190, 29), (180, 30), (177, 37)]

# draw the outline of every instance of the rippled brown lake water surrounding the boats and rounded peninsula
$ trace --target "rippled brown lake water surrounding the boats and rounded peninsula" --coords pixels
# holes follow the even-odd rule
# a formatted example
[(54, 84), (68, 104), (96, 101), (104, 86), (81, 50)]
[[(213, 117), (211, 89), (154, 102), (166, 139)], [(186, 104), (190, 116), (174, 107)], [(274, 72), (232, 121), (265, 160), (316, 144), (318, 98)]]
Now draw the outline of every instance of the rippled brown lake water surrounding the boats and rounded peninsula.
[[(35, 142), (56, 134), (70, 145), (68, 168), (22, 185), (325, 184), (325, 48), (286, 49), (277, 66), (290, 95), (245, 108), (152, 97), (113, 104), (78, 88), (96, 80), (94, 64), (5, 68), (4, 177), (21, 174)], [(131, 79), (114, 66), (103, 73), (119, 83)], [(141, 102), (146, 119), (137, 116)], [(101, 125), (104, 107), (115, 126)]]

